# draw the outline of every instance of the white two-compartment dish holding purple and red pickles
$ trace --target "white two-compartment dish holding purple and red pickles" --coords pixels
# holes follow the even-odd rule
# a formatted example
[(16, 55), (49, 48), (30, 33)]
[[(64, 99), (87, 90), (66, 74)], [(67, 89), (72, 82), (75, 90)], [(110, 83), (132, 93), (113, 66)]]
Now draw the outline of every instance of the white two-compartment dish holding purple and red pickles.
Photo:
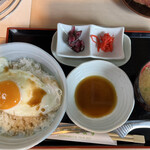
[[(124, 59), (123, 38), (124, 27), (58, 23), (56, 54), (67, 58)], [(77, 52), (80, 46), (83, 49)]]

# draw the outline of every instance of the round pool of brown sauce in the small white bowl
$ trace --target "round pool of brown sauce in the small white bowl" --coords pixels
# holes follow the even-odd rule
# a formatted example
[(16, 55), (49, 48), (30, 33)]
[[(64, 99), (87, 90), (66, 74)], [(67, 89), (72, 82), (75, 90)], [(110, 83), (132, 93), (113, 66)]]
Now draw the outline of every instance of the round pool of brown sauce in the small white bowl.
[(114, 110), (117, 94), (110, 81), (100, 76), (90, 76), (78, 84), (75, 102), (84, 115), (99, 118)]

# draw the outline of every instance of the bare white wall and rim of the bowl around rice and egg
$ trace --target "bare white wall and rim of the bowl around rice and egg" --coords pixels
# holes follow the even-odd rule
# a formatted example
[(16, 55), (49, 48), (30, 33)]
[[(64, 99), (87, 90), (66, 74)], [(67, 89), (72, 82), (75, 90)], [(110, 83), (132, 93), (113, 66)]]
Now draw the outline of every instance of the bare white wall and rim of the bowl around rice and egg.
[(56, 114), (54, 121), (48, 127), (28, 137), (4, 137), (0, 136), (0, 149), (29, 149), (48, 137), (58, 126), (66, 110), (66, 79), (59, 64), (42, 49), (26, 43), (10, 43), (0, 46), (1, 57), (9, 61), (21, 57), (31, 58), (41, 64), (42, 69), (54, 75), (63, 91), (62, 104)]

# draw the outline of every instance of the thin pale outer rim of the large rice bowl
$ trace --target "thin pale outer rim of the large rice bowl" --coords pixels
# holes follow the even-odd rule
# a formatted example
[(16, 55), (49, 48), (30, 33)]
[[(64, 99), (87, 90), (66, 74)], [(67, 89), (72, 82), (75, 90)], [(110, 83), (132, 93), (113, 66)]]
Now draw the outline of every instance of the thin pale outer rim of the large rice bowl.
[[(35, 46), (33, 44), (29, 44), (29, 43), (25, 43), (25, 42), (12, 42), (12, 43), (5, 43), (5, 44), (2, 44), (0, 45), (0, 52), (3, 52), (5, 51), (6, 52), (6, 49), (9, 47), (9, 51), (10, 50), (13, 50), (13, 48), (17, 46), (17, 47), (26, 47), (26, 48), (30, 48), (32, 49), (32, 51), (36, 51), (36, 52), (39, 52), (39, 55), (40, 53), (43, 53), (45, 56), (47, 56), (47, 58), (51, 59), (52, 63), (54, 63), (58, 69), (59, 69), (59, 73), (60, 73), (60, 77), (61, 77), (61, 80), (62, 80), (62, 84), (63, 84), (63, 88), (64, 88), (64, 95), (63, 95), (63, 103), (60, 107), (60, 111), (61, 113), (59, 114), (59, 117), (58, 117), (58, 114), (56, 116), (55, 119), (57, 119), (56, 123), (54, 123), (55, 127), (53, 127), (51, 129), (51, 131), (48, 131), (47, 133), (44, 133), (44, 135), (40, 138), (38, 138), (38, 140), (32, 142), (32, 144), (28, 145), (28, 146), (25, 146), (25, 147), (19, 147), (19, 148), (15, 148), (15, 149), (29, 149), (29, 148), (32, 148), (34, 147), (35, 145), (39, 144), (40, 142), (42, 142), (43, 140), (45, 140), (56, 128), (57, 126), (59, 125), (59, 123), (61, 122), (65, 112), (66, 112), (66, 104), (67, 104), (67, 101), (66, 101), (66, 98), (67, 98), (67, 84), (66, 84), (66, 77), (65, 77), (65, 74), (64, 74), (64, 71), (63, 69), (61, 68), (61, 66), (59, 65), (59, 63), (49, 54), (47, 53), (46, 51), (44, 51), (42, 48), (38, 47), (38, 46)], [(12, 47), (12, 49), (11, 49)], [(8, 50), (8, 49), (7, 49)], [(19, 52), (19, 49), (16, 50), (17, 52)], [(21, 50), (20, 50), (21, 51)], [(22, 52), (21, 53), (25, 53), (25, 52)], [(2, 56), (3, 57), (3, 56)], [(34, 58), (33, 58), (34, 59)], [(35, 60), (35, 59), (34, 59)], [(35, 60), (37, 61), (37, 60)], [(38, 62), (38, 61), (37, 61)], [(58, 72), (57, 72), (58, 73)], [(63, 108), (62, 108), (63, 107)], [(53, 122), (52, 122), (53, 123)]]

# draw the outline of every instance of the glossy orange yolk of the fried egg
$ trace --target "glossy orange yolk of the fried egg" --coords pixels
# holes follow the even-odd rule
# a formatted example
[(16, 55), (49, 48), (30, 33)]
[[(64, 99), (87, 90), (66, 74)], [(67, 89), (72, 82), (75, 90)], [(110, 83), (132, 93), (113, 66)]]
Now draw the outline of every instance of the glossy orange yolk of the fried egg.
[(0, 82), (0, 109), (9, 109), (17, 105), (21, 95), (15, 82), (6, 80)]

